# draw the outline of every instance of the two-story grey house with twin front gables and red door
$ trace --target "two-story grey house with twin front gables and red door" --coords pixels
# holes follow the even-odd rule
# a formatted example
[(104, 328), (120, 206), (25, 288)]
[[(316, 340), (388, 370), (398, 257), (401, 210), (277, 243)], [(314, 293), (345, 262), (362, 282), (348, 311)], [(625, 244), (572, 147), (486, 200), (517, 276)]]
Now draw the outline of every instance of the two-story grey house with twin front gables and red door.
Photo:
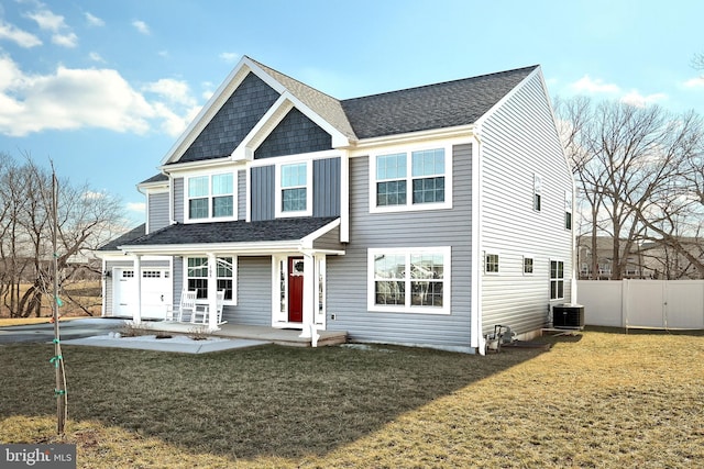
[(99, 253), (105, 315), (224, 290), (229, 324), (472, 351), (571, 300), (539, 66), (338, 100), (244, 57), (158, 168), (146, 224)]

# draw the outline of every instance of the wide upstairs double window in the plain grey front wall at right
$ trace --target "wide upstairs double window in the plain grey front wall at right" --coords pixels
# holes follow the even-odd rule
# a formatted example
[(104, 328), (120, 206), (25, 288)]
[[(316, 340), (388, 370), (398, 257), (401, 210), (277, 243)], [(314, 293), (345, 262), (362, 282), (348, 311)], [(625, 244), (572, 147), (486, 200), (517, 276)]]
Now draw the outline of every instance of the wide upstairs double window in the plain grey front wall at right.
[(446, 148), (376, 155), (371, 165), (372, 212), (451, 208)]

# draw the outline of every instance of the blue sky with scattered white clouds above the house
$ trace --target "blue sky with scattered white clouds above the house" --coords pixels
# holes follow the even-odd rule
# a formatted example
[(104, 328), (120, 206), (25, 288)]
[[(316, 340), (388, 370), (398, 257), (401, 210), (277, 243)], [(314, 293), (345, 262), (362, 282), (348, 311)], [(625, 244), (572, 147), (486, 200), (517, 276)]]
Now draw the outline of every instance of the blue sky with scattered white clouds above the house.
[(704, 2), (0, 0), (0, 152), (122, 199), (243, 55), (338, 99), (539, 64), (552, 98), (704, 110)]

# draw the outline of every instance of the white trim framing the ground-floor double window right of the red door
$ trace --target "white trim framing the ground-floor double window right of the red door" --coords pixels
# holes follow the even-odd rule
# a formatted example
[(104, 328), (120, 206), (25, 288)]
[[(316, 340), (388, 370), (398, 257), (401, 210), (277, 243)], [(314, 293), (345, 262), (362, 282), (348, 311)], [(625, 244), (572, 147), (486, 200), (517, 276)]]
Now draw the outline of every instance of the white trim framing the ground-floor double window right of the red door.
[[(367, 310), (385, 313), (419, 313), (419, 314), (450, 314), (452, 298), (452, 248), (450, 246), (439, 247), (394, 247), (394, 248), (369, 248), (367, 249)], [(410, 276), (405, 278), (406, 282), (406, 304), (382, 305), (376, 304), (374, 288), (374, 256), (378, 254), (405, 255), (406, 265), (410, 263), (410, 256), (417, 254), (441, 254), (443, 256), (443, 281), (442, 281), (442, 308), (413, 306), (410, 304)], [(407, 268), (406, 271), (409, 271)]]

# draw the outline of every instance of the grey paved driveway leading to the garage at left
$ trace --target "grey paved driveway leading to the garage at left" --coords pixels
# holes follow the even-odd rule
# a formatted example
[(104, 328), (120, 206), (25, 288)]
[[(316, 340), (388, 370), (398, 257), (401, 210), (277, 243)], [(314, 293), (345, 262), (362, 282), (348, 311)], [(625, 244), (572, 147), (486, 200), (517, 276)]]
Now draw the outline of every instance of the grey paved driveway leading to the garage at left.
[[(87, 317), (85, 320), (62, 321), (59, 333), (62, 340), (73, 338), (107, 335), (110, 332), (120, 331), (124, 320), (112, 317)], [(32, 324), (24, 326), (0, 327), (0, 344), (20, 342), (52, 342), (54, 338), (54, 324)]]

